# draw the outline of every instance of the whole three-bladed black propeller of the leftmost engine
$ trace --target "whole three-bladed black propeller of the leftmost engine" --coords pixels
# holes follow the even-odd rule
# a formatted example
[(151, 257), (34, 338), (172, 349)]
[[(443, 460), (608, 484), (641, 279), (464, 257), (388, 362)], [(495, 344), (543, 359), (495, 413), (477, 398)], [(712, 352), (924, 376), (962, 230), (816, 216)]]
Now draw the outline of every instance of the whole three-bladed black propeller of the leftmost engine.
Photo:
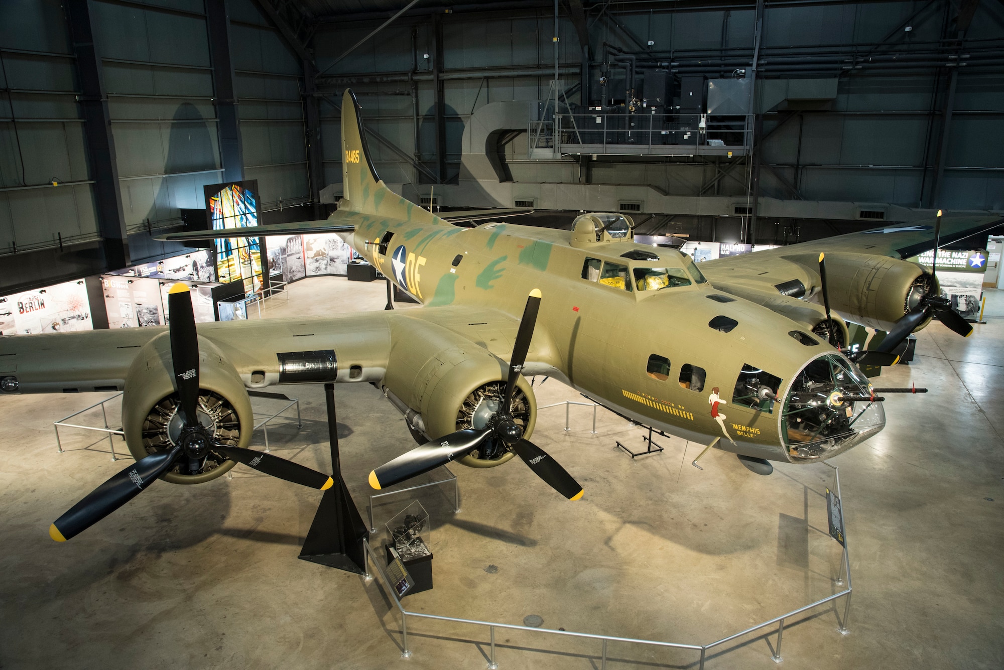
[(171, 287), (168, 294), (170, 313), (171, 360), (178, 394), (178, 411), (185, 420), (177, 443), (170, 449), (152, 453), (130, 465), (74, 505), (49, 527), (49, 537), (66, 542), (93, 526), (146, 490), (182, 457), (200, 459), (210, 451), (221, 451), (238, 462), (286, 481), (325, 490), (334, 479), (285, 458), (253, 449), (219, 444), (202, 425), (199, 406), (199, 340), (192, 311), (192, 296), (185, 284)]

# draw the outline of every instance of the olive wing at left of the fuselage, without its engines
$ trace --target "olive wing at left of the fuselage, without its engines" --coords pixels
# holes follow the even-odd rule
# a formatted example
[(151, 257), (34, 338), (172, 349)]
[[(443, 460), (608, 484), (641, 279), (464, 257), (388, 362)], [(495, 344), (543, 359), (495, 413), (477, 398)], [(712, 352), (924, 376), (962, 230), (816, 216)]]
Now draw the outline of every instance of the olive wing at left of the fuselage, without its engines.
[[(249, 387), (283, 383), (282, 356), (333, 350), (337, 381), (380, 381), (404, 340), (444, 337), (508, 359), (519, 319), (492, 309), (425, 307), (359, 312), (338, 317), (263, 319), (197, 325)], [(166, 327), (122, 328), (0, 338), (0, 378), (14, 376), (22, 393), (122, 390), (145, 345)], [(165, 335), (166, 336), (166, 335)], [(458, 337), (459, 336), (459, 337)], [(439, 342), (440, 340), (437, 340)], [(415, 343), (412, 342), (412, 345)], [(534, 339), (529, 361), (550, 357), (546, 334)], [(357, 366), (363, 378), (349, 368)], [(263, 383), (253, 381), (258, 372)]]

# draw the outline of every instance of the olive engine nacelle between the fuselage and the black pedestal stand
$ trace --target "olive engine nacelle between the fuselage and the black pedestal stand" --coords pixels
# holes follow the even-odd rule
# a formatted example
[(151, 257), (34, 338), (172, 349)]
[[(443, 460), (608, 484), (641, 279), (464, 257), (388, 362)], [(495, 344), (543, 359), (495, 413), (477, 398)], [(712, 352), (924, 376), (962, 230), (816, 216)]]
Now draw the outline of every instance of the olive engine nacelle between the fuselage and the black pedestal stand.
[[(457, 333), (422, 319), (396, 319), (394, 348), (384, 387), (406, 411), (414, 430), (429, 439), (463, 428), (480, 428), (499, 409), (508, 365)], [(520, 376), (513, 394), (513, 418), (529, 437), (537, 418), (533, 388)], [(408, 411), (401, 405), (407, 405)], [(464, 456), (471, 467), (494, 467), (512, 458)]]

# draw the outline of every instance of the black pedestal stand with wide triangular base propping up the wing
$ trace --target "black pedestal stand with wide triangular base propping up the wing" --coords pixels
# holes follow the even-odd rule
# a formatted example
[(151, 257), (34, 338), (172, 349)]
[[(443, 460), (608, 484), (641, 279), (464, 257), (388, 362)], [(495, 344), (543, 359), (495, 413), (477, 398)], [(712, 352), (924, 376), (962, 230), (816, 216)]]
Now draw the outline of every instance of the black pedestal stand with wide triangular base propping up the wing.
[(365, 574), (362, 541), (369, 534), (355, 502), (341, 478), (338, 456), (338, 421), (334, 411), (334, 384), (324, 384), (327, 401), (327, 431), (331, 443), (331, 476), (334, 485), (324, 491), (299, 558), (329, 568)]

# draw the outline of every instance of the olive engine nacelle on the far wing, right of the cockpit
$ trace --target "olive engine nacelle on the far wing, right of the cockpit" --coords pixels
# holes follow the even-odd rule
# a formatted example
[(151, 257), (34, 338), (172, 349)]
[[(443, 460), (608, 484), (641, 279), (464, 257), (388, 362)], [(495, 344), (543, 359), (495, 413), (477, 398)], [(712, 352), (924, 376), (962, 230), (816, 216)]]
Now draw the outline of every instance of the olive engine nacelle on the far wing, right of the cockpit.
[[(818, 268), (816, 255), (785, 258)], [(907, 261), (867, 254), (826, 254), (830, 307), (850, 321), (878, 330), (892, 330), (928, 292), (935, 283), (932, 279), (919, 265)], [(939, 289), (935, 287), (935, 291), (937, 294)]]

